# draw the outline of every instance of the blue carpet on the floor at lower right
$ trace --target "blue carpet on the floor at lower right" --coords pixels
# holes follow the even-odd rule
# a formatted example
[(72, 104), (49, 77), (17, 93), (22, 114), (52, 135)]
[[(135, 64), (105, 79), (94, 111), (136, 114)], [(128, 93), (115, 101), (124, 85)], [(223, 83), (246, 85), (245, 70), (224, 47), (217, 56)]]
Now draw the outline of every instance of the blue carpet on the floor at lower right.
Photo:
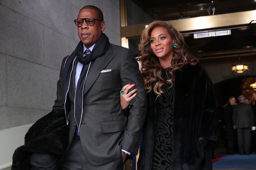
[(256, 154), (251, 155), (225, 155), (213, 164), (218, 170), (256, 170)]

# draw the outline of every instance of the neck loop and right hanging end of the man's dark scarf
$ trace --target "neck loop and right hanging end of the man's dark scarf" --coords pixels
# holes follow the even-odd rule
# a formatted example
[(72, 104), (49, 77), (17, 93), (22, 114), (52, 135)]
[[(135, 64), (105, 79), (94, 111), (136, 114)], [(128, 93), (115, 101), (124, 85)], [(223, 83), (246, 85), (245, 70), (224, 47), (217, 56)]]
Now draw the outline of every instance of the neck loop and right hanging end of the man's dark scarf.
[(77, 57), (77, 60), (82, 64), (86, 64), (84, 66), (84, 69), (82, 69), (78, 84), (76, 85), (74, 111), (75, 120), (78, 128), (80, 127), (80, 122), (82, 118), (84, 82), (86, 80), (87, 73), (89, 72), (91, 61), (94, 61), (97, 57), (102, 56), (107, 51), (109, 45), (110, 42), (108, 41), (108, 37), (105, 34), (102, 34), (101, 38), (96, 42), (94, 49), (91, 53), (87, 53), (86, 55), (84, 55), (82, 41), (79, 42), (78, 46), (75, 49), (75, 55)]

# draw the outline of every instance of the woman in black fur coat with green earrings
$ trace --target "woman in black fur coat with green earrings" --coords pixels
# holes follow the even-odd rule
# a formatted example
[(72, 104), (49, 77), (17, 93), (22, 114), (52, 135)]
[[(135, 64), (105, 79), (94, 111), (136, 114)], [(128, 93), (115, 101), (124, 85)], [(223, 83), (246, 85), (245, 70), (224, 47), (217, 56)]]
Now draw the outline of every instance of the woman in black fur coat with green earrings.
[[(184, 38), (154, 21), (140, 38), (142, 77), (148, 92), (139, 170), (211, 170), (210, 141), (219, 140), (212, 81)], [(136, 96), (123, 87), (121, 107)]]

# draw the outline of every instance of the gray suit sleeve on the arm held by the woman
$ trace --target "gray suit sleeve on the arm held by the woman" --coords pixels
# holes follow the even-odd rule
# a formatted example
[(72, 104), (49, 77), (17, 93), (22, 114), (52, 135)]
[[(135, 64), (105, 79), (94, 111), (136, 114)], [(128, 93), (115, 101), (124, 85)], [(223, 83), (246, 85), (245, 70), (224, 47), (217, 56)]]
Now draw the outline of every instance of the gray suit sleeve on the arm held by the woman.
[(133, 98), (129, 104), (131, 108), (129, 110), (129, 121), (121, 142), (122, 149), (137, 155), (140, 144), (140, 136), (146, 116), (147, 104), (146, 93), (138, 67), (138, 62), (136, 61), (131, 50), (127, 50), (123, 58), (120, 78), (122, 87), (128, 83), (135, 83), (135, 88), (138, 89), (137, 96)]

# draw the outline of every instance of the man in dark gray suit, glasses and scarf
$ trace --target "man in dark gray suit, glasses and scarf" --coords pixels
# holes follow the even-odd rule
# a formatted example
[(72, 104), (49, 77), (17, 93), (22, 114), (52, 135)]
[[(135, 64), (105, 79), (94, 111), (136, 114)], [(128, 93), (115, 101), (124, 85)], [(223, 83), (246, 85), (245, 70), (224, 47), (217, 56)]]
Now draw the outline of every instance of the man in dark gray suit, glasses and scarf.
[[(34, 169), (120, 170), (127, 154), (138, 153), (146, 115), (138, 63), (131, 50), (110, 44), (99, 8), (82, 7), (75, 24), (81, 41), (62, 61), (53, 106), (53, 110), (65, 109), (69, 147), (61, 164), (48, 157), (38, 168), (38, 162), (33, 163), (38, 157), (32, 156), (31, 165)], [(136, 84), (137, 97), (130, 102), (127, 122), (120, 90), (128, 83)]]

